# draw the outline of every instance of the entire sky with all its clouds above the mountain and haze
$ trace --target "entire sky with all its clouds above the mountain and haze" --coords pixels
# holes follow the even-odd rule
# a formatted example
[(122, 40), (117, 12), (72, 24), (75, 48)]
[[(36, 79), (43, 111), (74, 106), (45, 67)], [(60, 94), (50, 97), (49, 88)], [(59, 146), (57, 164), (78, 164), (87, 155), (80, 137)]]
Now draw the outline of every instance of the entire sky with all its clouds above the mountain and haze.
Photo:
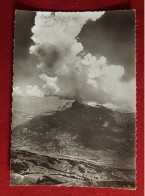
[(135, 13), (17, 11), (13, 94), (135, 110)]

